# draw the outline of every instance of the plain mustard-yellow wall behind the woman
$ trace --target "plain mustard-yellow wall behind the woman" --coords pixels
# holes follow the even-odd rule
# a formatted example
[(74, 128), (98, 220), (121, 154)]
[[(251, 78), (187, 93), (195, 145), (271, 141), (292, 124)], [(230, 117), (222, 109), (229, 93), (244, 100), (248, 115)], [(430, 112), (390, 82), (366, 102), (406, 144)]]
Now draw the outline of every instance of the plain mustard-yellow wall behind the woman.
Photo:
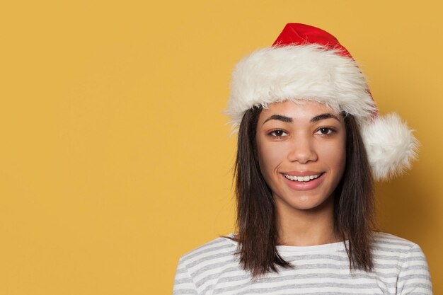
[(443, 293), (439, 2), (4, 1), (0, 294), (171, 294), (179, 256), (234, 230), (231, 70), (288, 22), (338, 37), (416, 129), (379, 221)]

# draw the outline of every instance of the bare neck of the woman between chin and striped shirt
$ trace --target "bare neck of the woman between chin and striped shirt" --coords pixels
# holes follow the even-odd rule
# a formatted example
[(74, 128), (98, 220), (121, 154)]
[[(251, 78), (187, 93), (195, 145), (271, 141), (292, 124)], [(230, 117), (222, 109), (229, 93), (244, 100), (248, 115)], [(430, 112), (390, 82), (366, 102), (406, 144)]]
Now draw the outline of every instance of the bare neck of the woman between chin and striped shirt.
[(278, 245), (309, 246), (341, 241), (334, 230), (333, 197), (313, 209), (294, 209), (276, 199)]

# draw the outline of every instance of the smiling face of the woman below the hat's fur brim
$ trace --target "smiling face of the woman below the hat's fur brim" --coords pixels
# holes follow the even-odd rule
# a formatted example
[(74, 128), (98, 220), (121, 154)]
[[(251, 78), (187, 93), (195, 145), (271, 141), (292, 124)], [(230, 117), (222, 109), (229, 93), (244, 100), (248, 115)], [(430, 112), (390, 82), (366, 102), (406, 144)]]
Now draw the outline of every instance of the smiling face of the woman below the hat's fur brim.
[(321, 103), (272, 103), (258, 118), (260, 170), (278, 208), (315, 209), (343, 176), (343, 117)]

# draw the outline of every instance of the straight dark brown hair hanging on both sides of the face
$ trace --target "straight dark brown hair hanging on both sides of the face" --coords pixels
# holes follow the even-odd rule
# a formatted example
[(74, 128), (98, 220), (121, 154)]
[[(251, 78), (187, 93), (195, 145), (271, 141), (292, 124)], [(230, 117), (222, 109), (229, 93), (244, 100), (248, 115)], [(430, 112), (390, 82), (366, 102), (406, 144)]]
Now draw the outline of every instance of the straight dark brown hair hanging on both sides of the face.
[[(278, 239), (274, 200), (260, 172), (255, 134), (262, 108), (243, 115), (234, 166), (237, 197), (238, 255), (253, 277), (277, 272), (277, 266), (292, 267), (277, 252)], [(344, 115), (346, 164), (335, 190), (334, 227), (345, 241), (350, 269), (372, 270), (370, 251), (375, 230), (372, 173), (359, 127), (352, 115)]]

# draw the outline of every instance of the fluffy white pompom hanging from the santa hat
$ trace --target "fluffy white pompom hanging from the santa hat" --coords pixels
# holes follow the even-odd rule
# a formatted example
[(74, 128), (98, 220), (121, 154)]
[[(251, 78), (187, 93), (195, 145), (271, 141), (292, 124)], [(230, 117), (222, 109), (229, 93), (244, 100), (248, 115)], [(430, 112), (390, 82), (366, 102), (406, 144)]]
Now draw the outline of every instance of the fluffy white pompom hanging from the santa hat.
[(413, 130), (395, 113), (363, 124), (362, 138), (376, 180), (388, 180), (409, 169), (419, 145)]

